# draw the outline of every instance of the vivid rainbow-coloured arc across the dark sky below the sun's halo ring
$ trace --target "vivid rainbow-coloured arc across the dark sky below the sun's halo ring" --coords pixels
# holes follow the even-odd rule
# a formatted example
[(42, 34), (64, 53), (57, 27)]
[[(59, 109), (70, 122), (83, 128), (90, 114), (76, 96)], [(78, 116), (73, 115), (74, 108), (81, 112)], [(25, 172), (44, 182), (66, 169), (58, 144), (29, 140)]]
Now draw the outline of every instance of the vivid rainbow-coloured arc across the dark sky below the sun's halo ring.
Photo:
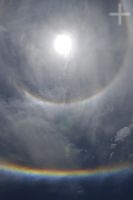
[(0, 172), (9, 172), (15, 175), (33, 176), (33, 177), (46, 177), (46, 178), (62, 178), (62, 177), (90, 177), (95, 175), (115, 174), (124, 170), (132, 169), (130, 164), (122, 164), (119, 166), (100, 167), (96, 169), (86, 170), (55, 170), (55, 169), (34, 169), (15, 164), (0, 164)]

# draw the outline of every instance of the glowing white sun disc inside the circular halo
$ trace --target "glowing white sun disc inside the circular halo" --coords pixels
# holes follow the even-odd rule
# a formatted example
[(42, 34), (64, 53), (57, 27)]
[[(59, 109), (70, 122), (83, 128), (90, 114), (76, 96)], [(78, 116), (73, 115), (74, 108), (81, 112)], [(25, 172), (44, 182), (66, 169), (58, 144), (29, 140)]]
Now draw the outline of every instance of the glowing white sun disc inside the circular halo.
[(54, 50), (64, 58), (70, 57), (73, 50), (72, 37), (68, 34), (58, 34), (54, 39)]

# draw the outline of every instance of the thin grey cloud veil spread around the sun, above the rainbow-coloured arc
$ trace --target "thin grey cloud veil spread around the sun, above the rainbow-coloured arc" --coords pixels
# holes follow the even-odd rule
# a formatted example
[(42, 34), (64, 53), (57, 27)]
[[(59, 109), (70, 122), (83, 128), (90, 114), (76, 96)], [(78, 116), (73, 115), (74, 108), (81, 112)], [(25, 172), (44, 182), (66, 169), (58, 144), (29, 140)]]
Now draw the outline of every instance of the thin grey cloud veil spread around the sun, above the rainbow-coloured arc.
[[(60, 5), (59, 1), (14, 0), (11, 6), (6, 6), (3, 1), (8, 8), (1, 20), (4, 26), (0, 25), (1, 159), (36, 167), (69, 168), (78, 166), (77, 154), (83, 152), (80, 162), (86, 162), (87, 167), (92, 164), (92, 157), (94, 166), (105, 163), (110, 137), (119, 126), (116, 99), (110, 103), (104, 96), (99, 103), (100, 98), (96, 97), (92, 106), (78, 105), (71, 111), (66, 106), (63, 112), (60, 107), (55, 111), (43, 103), (40, 106), (28, 101), (21, 93), (24, 89), (59, 102), (84, 99), (105, 86), (108, 88), (118, 75), (128, 39), (124, 22), (121, 32), (115, 20), (108, 23), (108, 10), (103, 13), (103, 7), (95, 3), (86, 2), (85, 6), (82, 1), (77, 2), (72, 5), (71, 1), (67, 4), (63, 1)], [(62, 25), (78, 38), (80, 47), (77, 57), (68, 63), (68, 73), (62, 67), (64, 61), (56, 58), (52, 46), (49, 47)], [(113, 34), (112, 27), (116, 30)], [(128, 91), (123, 88), (118, 88), (118, 98), (114, 95), (119, 105), (120, 93)], [(61, 112), (68, 120), (60, 117)], [(119, 130), (114, 143), (126, 139), (129, 129), (132, 125)]]

